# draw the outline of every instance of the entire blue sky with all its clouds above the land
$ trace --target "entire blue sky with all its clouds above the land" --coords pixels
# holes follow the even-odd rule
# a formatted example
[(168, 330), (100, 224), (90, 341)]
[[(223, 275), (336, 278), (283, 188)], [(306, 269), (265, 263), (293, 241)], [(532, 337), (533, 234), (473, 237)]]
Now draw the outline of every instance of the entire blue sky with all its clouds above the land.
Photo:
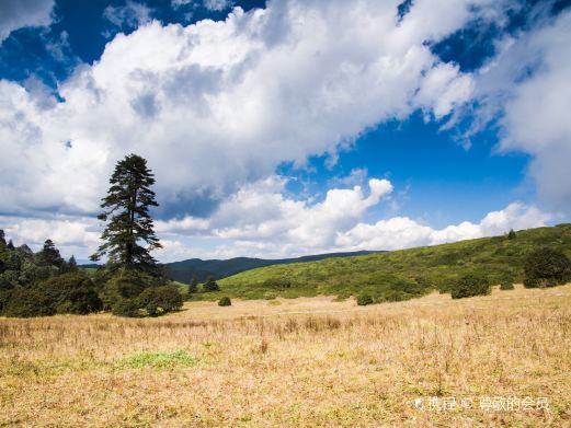
[(568, 221), (569, 5), (5, 0), (0, 227), (85, 258), (129, 152), (164, 262)]

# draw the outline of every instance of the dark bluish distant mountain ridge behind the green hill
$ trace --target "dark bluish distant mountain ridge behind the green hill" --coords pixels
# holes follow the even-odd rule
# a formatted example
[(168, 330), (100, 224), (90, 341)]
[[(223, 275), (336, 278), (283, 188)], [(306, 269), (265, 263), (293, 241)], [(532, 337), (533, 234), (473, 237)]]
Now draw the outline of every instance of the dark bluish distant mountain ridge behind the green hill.
[(355, 251), (345, 253), (327, 253), (316, 254), (295, 258), (279, 258), (279, 259), (267, 259), (267, 258), (252, 258), (252, 257), (235, 257), (227, 261), (221, 259), (208, 259), (203, 261), (201, 258), (190, 258), (187, 261), (167, 263), (164, 266), (168, 268), (169, 276), (179, 282), (189, 284), (193, 276), (196, 276), (199, 282), (206, 281), (209, 276), (215, 279), (222, 279), (236, 274), (240, 274), (244, 270), (255, 269), (258, 267), (266, 267), (272, 265), (284, 265), (288, 263), (305, 263), (322, 261), (324, 258), (334, 257), (351, 257), (367, 255), (372, 253), (378, 253), (373, 251)]

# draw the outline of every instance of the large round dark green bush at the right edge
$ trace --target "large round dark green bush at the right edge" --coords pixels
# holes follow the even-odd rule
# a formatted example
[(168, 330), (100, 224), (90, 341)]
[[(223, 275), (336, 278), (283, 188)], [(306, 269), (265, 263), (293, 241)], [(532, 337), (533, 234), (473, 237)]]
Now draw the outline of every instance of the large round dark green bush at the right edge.
[(524, 270), (524, 286), (528, 288), (555, 287), (571, 280), (571, 262), (552, 248), (540, 248), (529, 254)]

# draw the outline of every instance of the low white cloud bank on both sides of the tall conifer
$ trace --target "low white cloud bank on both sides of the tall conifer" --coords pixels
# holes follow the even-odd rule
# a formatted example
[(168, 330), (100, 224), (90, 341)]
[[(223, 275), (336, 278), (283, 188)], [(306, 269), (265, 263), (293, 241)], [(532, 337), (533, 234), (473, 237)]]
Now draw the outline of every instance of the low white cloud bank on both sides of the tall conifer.
[[(408, 217), (369, 223), (364, 221), (366, 215), (388, 201), (393, 190), (387, 180), (370, 178), (366, 187), (332, 188), (317, 203), (284, 196), (285, 186), (283, 177), (271, 176), (242, 187), (208, 219), (186, 216), (157, 221), (164, 247), (156, 257), (165, 263), (192, 257), (281, 258), (334, 251), (390, 251), (500, 235), (553, 219), (537, 207), (514, 203), (477, 223), (464, 221), (443, 229)], [(67, 256), (87, 258), (100, 244), (101, 224), (93, 218), (0, 217), (1, 228), (16, 244), (28, 243), (36, 250), (50, 238)]]

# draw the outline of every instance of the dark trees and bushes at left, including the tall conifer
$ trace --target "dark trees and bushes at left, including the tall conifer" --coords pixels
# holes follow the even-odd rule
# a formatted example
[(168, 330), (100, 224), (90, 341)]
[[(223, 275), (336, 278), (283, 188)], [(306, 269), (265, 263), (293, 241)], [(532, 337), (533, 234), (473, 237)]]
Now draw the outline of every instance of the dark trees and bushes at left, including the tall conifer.
[(98, 269), (78, 269), (65, 261), (52, 240), (34, 253), (15, 247), (0, 232), (0, 314), (42, 316), (87, 314), (101, 310), (122, 316), (157, 316), (182, 308), (183, 296), (171, 285), (150, 252), (162, 245), (149, 213), (158, 207), (147, 161), (129, 154), (117, 162), (98, 217), (105, 222), (102, 245), (91, 256), (106, 257)]

